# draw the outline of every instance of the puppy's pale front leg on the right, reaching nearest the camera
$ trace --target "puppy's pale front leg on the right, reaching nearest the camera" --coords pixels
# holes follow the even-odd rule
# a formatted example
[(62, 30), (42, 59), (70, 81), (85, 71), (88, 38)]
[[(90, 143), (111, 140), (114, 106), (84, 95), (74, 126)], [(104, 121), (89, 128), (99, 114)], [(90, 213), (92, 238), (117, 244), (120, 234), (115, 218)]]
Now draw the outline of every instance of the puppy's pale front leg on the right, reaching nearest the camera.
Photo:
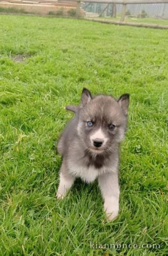
[(116, 173), (105, 173), (98, 177), (98, 184), (104, 198), (107, 219), (112, 221), (119, 213), (119, 180)]

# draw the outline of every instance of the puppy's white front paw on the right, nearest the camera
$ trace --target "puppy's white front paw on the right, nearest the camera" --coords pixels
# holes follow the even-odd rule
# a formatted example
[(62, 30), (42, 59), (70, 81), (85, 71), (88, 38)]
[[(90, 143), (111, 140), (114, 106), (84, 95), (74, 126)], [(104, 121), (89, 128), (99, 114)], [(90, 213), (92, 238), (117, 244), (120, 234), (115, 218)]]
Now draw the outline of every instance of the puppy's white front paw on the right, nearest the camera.
[(107, 201), (104, 203), (104, 210), (108, 221), (113, 221), (119, 213), (119, 203)]

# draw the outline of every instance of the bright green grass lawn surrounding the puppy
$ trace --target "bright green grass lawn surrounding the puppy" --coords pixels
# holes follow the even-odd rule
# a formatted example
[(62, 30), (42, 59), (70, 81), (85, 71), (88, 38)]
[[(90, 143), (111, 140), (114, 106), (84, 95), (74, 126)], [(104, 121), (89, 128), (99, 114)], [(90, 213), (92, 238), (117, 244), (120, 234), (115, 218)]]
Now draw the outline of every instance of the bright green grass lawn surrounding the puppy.
[[(168, 31), (19, 15), (0, 23), (0, 255), (167, 255)], [(83, 87), (131, 94), (112, 223), (97, 182), (77, 180), (55, 198), (55, 141)], [(96, 250), (90, 241), (160, 249)]]

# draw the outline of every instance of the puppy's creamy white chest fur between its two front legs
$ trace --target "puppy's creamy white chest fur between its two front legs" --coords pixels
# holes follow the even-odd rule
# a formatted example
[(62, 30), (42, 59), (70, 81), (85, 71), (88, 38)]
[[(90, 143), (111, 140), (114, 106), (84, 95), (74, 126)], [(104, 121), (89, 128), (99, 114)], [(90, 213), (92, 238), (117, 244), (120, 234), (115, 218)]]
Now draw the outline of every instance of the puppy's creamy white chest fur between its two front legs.
[(83, 181), (93, 182), (100, 174), (104, 172), (104, 167), (96, 169), (95, 166), (82, 166), (78, 163), (70, 163), (68, 170), (75, 177), (81, 178)]

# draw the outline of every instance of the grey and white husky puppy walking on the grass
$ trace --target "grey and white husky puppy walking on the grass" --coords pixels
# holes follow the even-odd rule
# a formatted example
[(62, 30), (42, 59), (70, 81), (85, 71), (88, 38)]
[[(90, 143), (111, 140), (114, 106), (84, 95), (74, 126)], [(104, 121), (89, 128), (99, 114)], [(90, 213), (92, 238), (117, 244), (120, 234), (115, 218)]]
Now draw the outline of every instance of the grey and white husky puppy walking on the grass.
[(98, 179), (107, 219), (119, 212), (119, 145), (127, 126), (129, 94), (119, 99), (93, 97), (83, 88), (80, 106), (66, 106), (75, 113), (58, 141), (63, 156), (57, 198), (63, 198), (76, 177), (89, 183)]

